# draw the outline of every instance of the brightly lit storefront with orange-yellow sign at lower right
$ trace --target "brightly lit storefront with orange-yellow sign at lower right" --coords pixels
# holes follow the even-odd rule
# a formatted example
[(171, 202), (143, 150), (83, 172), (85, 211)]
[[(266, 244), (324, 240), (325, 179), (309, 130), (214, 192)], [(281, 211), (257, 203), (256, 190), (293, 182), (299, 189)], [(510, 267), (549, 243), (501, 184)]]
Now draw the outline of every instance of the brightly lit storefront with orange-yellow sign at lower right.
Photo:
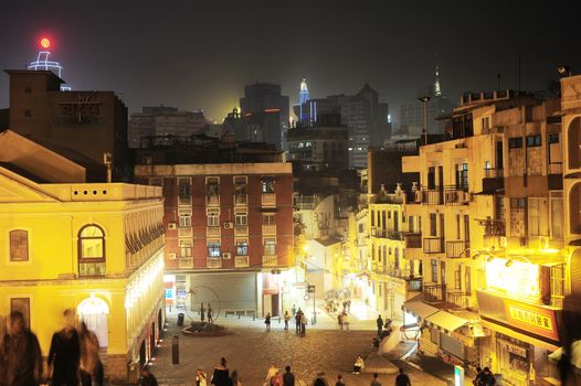
[(477, 291), (480, 318), (492, 331), (486, 352), (488, 365), (501, 374), (504, 385), (543, 384), (556, 377), (548, 356), (560, 346), (557, 325), (560, 310)]

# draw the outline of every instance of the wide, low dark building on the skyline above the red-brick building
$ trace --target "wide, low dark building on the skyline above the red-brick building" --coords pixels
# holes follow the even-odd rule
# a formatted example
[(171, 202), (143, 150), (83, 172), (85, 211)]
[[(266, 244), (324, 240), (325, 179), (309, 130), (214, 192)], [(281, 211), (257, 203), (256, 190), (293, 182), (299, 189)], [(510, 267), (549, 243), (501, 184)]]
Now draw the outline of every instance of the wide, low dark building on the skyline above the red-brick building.
[(208, 126), (203, 111), (183, 111), (177, 107), (144, 107), (129, 118), (129, 147), (139, 148), (145, 137), (187, 137), (202, 132)]

